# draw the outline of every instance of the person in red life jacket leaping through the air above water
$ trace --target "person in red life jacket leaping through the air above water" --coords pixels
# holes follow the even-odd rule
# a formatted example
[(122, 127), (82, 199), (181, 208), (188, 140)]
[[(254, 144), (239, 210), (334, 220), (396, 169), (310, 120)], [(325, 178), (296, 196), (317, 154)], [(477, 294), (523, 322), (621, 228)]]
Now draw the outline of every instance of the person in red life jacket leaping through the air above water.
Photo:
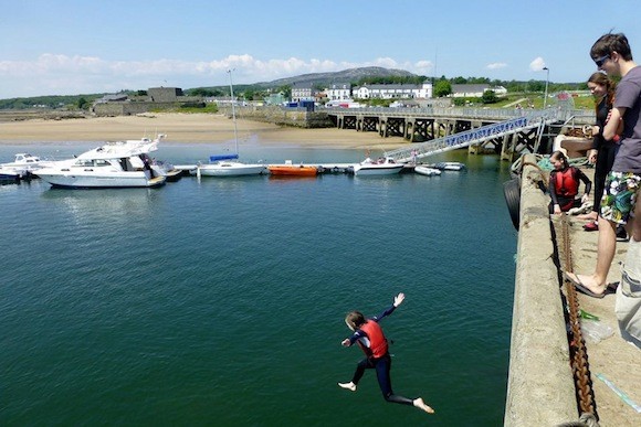
[(393, 394), (391, 389), (391, 380), (389, 376), (389, 371), (391, 369), (391, 357), (388, 352), (388, 344), (382, 329), (378, 324), (385, 317), (391, 314), (393, 310), (404, 300), (404, 293), (399, 293), (393, 298), (393, 303), (387, 310), (385, 310), (380, 316), (374, 317), (371, 319), (366, 319), (359, 311), (351, 311), (345, 317), (345, 323), (347, 327), (354, 331), (351, 337), (343, 340), (343, 346), (351, 346), (357, 343), (360, 349), (365, 352), (365, 359), (361, 360), (356, 366), (354, 372), (354, 377), (349, 383), (338, 383), (338, 385), (345, 389), (356, 392), (358, 382), (365, 374), (366, 369), (375, 369), (376, 376), (378, 378), (378, 385), (382, 392), (382, 397), (387, 402), (398, 403), (402, 405), (412, 405), (419, 409), (424, 410), (428, 414), (433, 414), (434, 409), (428, 406), (421, 397), (410, 399), (397, 394)]

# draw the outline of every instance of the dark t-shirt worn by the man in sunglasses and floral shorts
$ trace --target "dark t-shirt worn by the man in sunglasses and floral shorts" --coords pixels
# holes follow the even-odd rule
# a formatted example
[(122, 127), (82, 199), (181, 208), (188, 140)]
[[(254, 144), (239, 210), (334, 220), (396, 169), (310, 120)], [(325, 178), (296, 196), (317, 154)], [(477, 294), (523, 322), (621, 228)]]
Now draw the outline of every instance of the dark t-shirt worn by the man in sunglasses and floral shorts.
[(623, 139), (612, 170), (641, 173), (641, 66), (630, 70), (617, 85), (617, 107), (626, 108), (626, 114)]

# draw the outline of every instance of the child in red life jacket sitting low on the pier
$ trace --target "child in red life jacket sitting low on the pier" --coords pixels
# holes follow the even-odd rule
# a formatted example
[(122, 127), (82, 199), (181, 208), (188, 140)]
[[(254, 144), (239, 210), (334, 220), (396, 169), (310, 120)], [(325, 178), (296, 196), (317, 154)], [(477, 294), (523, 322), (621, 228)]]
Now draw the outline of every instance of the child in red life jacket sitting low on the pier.
[[(560, 214), (586, 203), (592, 189), (590, 179), (580, 169), (569, 166), (563, 151), (553, 152), (549, 161), (554, 167), (554, 171), (549, 174), (549, 195), (551, 196), (549, 213)], [(580, 199), (576, 199), (581, 181), (586, 191)]]

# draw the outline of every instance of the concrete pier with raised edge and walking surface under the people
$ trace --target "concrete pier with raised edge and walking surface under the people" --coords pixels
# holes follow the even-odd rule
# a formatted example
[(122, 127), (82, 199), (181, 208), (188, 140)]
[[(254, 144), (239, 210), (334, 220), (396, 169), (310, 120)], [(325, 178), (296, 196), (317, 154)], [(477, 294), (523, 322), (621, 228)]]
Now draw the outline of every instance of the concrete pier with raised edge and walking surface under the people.
[[(534, 156), (528, 156), (527, 162), (536, 163)], [(549, 196), (539, 189), (540, 180), (537, 168), (524, 168), (505, 426), (557, 426), (577, 421), (580, 416), (564, 317), (566, 290), (557, 259), (556, 236), (560, 233), (553, 233), (558, 229), (560, 216), (550, 220)], [(596, 265), (598, 233), (585, 232), (586, 222), (576, 216), (568, 215), (567, 220), (574, 271), (589, 274)], [(627, 246), (617, 244), (609, 282), (621, 279), (619, 261)], [(578, 300), (582, 310), (614, 330), (599, 343), (584, 338), (599, 425), (641, 425), (641, 414), (597, 377), (599, 374), (609, 380), (641, 404), (641, 350), (621, 338), (614, 316), (616, 296), (595, 299), (578, 293)]]

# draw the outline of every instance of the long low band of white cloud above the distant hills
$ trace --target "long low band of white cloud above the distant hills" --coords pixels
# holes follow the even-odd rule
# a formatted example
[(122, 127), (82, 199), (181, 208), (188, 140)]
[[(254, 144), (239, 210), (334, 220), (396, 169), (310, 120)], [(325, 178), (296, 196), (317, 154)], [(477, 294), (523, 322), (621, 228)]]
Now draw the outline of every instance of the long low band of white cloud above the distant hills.
[(260, 60), (249, 54), (212, 61), (107, 61), (95, 56), (45, 53), (34, 61), (0, 61), (3, 83), (0, 98), (113, 93), (160, 85), (182, 88), (219, 86), (228, 84), (228, 70), (234, 70), (234, 83), (251, 84), (362, 66), (408, 70), (419, 75), (433, 72), (430, 61), (399, 63), (391, 57), (361, 63), (298, 57)]

